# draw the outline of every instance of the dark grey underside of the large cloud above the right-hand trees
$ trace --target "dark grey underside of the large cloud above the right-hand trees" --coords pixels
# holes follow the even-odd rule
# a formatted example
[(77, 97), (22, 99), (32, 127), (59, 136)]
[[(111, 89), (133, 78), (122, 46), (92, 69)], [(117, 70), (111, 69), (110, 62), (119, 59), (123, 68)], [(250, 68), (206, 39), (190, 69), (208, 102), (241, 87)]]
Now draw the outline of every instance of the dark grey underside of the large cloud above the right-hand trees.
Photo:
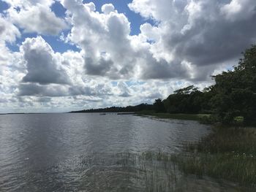
[(230, 21), (220, 16), (213, 22), (198, 19), (186, 34), (173, 34), (167, 37), (166, 43), (179, 58), (202, 66), (237, 58), (255, 43), (255, 37), (256, 11), (248, 20)]

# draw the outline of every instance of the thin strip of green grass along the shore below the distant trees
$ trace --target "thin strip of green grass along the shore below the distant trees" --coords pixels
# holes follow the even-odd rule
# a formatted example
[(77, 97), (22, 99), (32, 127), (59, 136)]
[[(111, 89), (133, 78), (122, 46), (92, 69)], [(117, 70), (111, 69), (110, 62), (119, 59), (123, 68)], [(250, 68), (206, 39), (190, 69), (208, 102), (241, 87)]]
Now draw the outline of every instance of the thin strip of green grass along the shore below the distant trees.
[(137, 115), (142, 116), (153, 116), (156, 118), (165, 118), (165, 119), (180, 119), (180, 120), (201, 120), (203, 117), (209, 117), (208, 114), (170, 114), (170, 113), (157, 113), (151, 111), (141, 111), (136, 112)]

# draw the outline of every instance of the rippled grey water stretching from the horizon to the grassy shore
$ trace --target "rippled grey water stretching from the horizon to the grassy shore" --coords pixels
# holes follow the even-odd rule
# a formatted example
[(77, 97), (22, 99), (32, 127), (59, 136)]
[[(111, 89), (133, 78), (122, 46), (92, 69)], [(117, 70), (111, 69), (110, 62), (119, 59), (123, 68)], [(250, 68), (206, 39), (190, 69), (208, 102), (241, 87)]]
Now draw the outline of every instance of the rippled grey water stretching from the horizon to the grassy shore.
[(176, 153), (209, 130), (194, 121), (133, 115), (0, 115), (0, 191), (148, 191), (148, 185), (165, 191), (154, 182), (173, 178), (173, 191), (206, 185), (222, 191), (226, 186), (215, 181), (169, 174), (140, 158)]

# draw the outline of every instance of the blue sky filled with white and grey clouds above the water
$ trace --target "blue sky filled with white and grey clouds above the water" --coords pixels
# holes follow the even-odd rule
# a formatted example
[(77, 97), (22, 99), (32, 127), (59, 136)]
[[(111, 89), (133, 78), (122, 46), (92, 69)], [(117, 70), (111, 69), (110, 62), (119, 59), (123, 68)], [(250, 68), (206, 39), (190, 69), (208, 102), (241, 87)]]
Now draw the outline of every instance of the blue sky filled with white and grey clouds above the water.
[(255, 43), (255, 0), (0, 0), (0, 113), (151, 104)]

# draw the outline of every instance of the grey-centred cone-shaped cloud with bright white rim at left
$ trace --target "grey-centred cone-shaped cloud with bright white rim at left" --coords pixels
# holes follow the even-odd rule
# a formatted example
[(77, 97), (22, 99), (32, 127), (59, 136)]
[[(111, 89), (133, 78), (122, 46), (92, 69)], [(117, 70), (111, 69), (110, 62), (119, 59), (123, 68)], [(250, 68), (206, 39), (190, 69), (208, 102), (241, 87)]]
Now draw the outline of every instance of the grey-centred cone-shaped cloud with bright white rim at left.
[(22, 49), (28, 71), (23, 82), (38, 82), (41, 85), (69, 84), (67, 73), (57, 66), (51, 48), (42, 37), (26, 39)]

